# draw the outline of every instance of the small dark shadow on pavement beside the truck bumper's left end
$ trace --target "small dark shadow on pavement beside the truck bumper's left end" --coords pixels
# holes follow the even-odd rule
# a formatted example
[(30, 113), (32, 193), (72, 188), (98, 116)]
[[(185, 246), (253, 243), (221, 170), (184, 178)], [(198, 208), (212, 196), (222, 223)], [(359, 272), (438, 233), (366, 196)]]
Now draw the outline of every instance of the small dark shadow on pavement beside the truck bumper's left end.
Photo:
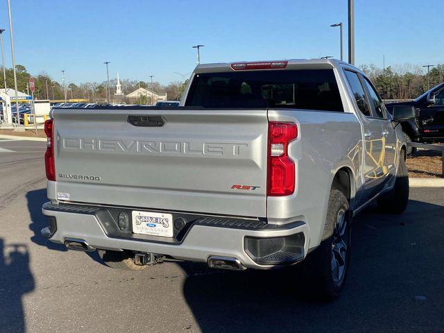
[(26, 193), (26, 200), (28, 200), (28, 211), (31, 216), (29, 229), (34, 233), (31, 241), (37, 245), (46, 246), (50, 250), (66, 251), (67, 248), (64, 245), (53, 243), (40, 234), (40, 230), (48, 226), (46, 217), (42, 214), (42, 205), (48, 201), (46, 189), (28, 191)]

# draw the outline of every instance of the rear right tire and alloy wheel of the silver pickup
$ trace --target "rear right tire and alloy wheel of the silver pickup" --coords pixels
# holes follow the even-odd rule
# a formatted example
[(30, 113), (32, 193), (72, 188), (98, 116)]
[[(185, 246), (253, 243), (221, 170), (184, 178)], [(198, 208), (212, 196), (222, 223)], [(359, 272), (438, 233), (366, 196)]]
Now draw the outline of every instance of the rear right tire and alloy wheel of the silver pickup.
[(308, 282), (321, 300), (337, 298), (347, 278), (351, 250), (351, 217), (348, 207), (345, 195), (332, 189), (323, 240), (307, 258)]

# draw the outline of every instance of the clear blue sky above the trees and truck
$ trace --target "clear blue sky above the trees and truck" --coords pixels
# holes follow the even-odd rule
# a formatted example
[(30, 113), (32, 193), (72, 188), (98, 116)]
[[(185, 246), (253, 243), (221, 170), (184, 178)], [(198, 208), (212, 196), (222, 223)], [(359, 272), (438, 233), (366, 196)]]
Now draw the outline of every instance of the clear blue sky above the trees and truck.
[[(16, 64), (67, 83), (110, 78), (181, 80), (200, 61), (339, 58), (347, 0), (10, 0)], [(355, 0), (356, 65), (444, 62), (442, 0)], [(8, 7), (0, 0), (6, 67)]]

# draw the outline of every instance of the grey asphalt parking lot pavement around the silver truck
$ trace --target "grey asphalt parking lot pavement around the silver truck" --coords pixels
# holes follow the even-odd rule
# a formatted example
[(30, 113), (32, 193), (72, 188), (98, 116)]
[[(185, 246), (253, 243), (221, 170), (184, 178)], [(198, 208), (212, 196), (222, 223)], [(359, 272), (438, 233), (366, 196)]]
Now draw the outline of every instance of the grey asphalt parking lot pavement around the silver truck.
[(297, 270), (164, 263), (112, 270), (40, 236), (45, 142), (0, 140), (0, 332), (443, 332), (444, 189), (407, 212), (357, 216), (338, 300), (310, 300)]

